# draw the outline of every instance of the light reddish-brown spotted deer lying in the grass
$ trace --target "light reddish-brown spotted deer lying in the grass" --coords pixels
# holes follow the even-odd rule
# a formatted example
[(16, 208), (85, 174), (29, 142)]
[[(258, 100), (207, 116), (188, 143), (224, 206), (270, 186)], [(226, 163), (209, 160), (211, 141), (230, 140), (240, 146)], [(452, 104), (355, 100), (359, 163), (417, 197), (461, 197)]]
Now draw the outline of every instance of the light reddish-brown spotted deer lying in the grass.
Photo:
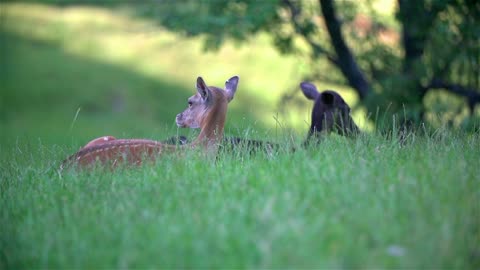
[(171, 145), (145, 139), (116, 139), (104, 136), (87, 143), (77, 153), (63, 161), (60, 170), (71, 165), (80, 168), (99, 162), (112, 168), (118, 164), (139, 165), (144, 160), (154, 161), (164, 153), (175, 153), (188, 147), (203, 147), (208, 153), (216, 153), (223, 138), (228, 103), (237, 90), (239, 77), (225, 83), (225, 88), (207, 86), (202, 77), (197, 78), (197, 93), (188, 99), (188, 107), (176, 116), (179, 127), (200, 128), (200, 134), (192, 143)]

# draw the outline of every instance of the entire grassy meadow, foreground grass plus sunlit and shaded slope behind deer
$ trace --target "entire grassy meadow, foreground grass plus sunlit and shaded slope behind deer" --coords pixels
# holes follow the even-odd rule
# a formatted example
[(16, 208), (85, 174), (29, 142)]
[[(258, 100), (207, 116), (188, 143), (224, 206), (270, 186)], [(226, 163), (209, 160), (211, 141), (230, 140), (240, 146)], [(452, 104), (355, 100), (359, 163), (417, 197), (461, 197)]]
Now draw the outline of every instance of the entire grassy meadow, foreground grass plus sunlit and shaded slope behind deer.
[[(306, 66), (266, 36), (204, 52), (128, 9), (0, 4), (0, 61), (0, 269), (480, 267), (480, 135), (298, 148), (312, 104), (276, 104)], [(174, 117), (199, 75), (240, 76), (228, 135), (285, 147), (58, 173), (98, 136), (194, 137)]]

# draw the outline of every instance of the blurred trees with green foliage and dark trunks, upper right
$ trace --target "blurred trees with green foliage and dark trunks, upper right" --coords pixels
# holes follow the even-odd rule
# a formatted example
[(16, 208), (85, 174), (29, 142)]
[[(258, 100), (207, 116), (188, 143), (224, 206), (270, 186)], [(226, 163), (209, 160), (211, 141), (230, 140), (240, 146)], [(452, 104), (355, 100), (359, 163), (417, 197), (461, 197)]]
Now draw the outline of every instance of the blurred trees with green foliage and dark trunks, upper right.
[[(471, 128), (480, 102), (480, 2), (386, 3), (394, 18), (377, 2), (180, 0), (139, 12), (184, 35), (205, 35), (210, 50), (267, 32), (281, 53), (308, 63), (305, 80), (348, 85), (377, 124), (379, 115), (396, 114), (408, 125)], [(293, 95), (284, 91), (289, 103)]]

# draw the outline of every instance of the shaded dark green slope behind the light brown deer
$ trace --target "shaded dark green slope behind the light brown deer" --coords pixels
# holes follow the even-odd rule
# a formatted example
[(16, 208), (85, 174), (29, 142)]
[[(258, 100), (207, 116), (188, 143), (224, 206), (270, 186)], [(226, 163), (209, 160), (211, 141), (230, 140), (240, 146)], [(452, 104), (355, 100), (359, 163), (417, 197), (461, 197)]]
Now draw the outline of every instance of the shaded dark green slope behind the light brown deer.
[[(195, 78), (191, 84), (152, 78), (5, 31), (0, 32), (0, 43), (2, 143), (20, 137), (75, 145), (102, 135), (163, 139), (192, 132), (177, 131), (174, 119), (195, 93)], [(228, 118), (234, 124), (228, 123), (227, 130), (229, 125), (241, 129), (237, 122), (255, 122), (248, 107), (258, 102), (245, 98), (233, 101), (242, 104), (230, 109)]]

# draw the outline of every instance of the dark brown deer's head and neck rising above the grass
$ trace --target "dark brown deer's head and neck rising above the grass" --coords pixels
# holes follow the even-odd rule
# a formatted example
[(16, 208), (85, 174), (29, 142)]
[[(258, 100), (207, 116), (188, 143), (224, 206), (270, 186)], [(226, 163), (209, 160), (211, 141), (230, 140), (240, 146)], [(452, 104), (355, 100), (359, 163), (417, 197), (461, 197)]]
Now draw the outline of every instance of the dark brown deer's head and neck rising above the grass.
[(322, 133), (336, 131), (340, 135), (354, 136), (359, 132), (350, 116), (350, 107), (337, 92), (325, 90), (319, 93), (315, 85), (309, 82), (302, 82), (300, 88), (305, 97), (315, 101), (312, 123), (304, 145), (307, 145), (312, 137), (320, 138)]

